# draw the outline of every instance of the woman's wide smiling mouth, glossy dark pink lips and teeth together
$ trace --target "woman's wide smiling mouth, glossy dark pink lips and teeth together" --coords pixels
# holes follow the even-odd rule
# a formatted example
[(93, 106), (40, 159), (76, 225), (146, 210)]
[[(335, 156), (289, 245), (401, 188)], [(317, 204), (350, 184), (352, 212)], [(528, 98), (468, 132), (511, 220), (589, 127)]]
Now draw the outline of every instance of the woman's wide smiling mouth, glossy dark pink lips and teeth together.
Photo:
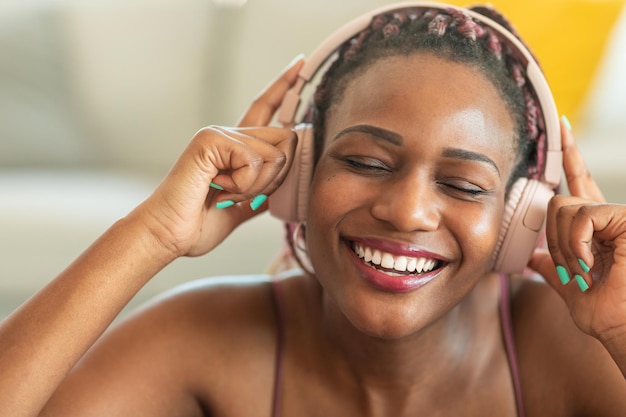
[(415, 290), (439, 275), (446, 264), (434, 254), (389, 243), (350, 241), (348, 246), (360, 275), (376, 288), (388, 292)]

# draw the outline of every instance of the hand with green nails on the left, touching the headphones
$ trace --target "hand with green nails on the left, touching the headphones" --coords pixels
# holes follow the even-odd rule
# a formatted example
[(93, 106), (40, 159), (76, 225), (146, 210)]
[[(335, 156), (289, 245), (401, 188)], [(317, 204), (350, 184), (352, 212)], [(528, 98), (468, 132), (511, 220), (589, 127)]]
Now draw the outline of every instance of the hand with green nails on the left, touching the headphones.
[[(267, 125), (302, 63), (298, 59), (283, 71), (254, 100), (238, 127), (210, 126), (196, 133), (159, 187), (131, 213), (172, 259), (209, 252), (265, 210), (266, 204), (253, 208), (251, 202), (257, 196), (255, 203), (262, 202), (278, 188), (296, 146), (291, 129)], [(218, 202), (227, 207), (217, 208)]]

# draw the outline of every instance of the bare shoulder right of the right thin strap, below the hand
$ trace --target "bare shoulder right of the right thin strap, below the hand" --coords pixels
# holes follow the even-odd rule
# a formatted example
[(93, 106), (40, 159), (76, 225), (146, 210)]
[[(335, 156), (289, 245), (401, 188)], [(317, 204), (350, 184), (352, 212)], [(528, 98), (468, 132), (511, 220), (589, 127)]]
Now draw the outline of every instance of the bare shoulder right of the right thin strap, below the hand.
[(623, 415), (626, 382), (543, 281), (513, 279), (511, 313), (528, 415)]

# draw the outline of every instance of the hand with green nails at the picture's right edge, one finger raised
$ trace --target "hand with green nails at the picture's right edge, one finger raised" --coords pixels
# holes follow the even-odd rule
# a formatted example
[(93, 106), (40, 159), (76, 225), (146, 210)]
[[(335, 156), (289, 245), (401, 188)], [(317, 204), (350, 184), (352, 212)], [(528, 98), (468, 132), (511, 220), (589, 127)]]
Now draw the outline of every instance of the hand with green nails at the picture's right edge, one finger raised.
[(565, 300), (576, 325), (601, 341), (626, 337), (626, 206), (608, 204), (591, 178), (570, 130), (561, 124), (569, 196), (548, 205), (549, 253), (529, 267)]

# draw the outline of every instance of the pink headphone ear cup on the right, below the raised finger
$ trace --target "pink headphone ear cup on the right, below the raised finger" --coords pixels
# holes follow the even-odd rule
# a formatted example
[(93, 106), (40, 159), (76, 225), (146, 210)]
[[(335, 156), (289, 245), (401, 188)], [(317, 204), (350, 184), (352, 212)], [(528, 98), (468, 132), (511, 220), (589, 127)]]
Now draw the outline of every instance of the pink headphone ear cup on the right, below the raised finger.
[(513, 184), (494, 252), (495, 271), (510, 274), (526, 268), (545, 226), (548, 202), (553, 195), (548, 184), (538, 180), (520, 178)]

